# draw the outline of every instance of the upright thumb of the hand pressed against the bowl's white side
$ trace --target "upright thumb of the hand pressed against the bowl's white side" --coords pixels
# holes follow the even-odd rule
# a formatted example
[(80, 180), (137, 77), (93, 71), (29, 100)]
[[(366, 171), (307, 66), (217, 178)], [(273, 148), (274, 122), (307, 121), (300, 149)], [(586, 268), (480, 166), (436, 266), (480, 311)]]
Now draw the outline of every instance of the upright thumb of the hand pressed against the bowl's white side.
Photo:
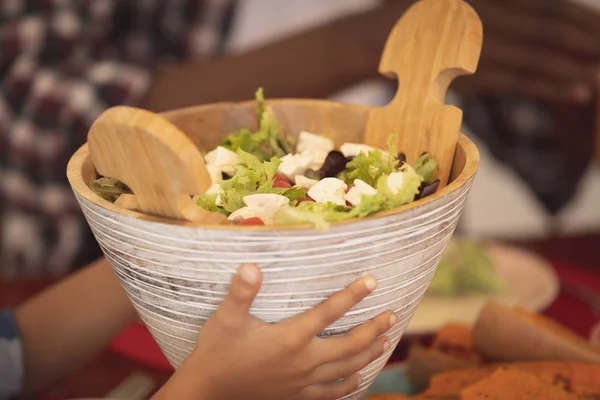
[(250, 306), (260, 290), (262, 274), (255, 264), (242, 265), (231, 281), (229, 293), (217, 313), (224, 321), (235, 324), (250, 316)]

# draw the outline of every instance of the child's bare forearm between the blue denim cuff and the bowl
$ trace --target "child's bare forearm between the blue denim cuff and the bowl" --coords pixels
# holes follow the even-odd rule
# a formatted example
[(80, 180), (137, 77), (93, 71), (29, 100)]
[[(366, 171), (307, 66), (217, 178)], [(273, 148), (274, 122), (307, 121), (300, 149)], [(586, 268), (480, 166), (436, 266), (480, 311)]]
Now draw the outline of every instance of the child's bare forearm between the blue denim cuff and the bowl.
[(39, 390), (89, 361), (135, 316), (104, 258), (27, 302), (16, 311), (25, 392)]

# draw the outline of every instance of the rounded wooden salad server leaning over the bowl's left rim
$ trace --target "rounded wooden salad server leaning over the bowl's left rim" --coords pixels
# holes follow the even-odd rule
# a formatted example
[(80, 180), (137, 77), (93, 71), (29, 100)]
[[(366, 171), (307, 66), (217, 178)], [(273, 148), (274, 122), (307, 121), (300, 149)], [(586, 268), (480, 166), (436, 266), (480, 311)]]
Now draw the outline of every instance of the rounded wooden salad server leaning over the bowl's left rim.
[(166, 218), (220, 223), (224, 215), (206, 211), (192, 199), (211, 186), (202, 155), (192, 141), (164, 117), (119, 106), (105, 111), (88, 133), (96, 171), (118, 179), (134, 195), (116, 204)]

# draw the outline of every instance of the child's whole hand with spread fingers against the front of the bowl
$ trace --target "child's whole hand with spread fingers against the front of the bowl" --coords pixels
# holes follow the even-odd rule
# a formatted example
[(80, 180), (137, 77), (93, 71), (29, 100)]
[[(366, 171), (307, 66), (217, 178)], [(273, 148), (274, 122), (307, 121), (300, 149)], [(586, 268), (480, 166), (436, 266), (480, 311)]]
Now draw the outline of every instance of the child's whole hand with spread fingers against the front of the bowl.
[(276, 324), (252, 317), (261, 272), (243, 265), (227, 298), (204, 324), (198, 344), (157, 399), (336, 399), (362, 381), (358, 371), (390, 346), (379, 337), (397, 321), (386, 312), (351, 332), (326, 339), (316, 335), (377, 286), (364, 277), (313, 309)]

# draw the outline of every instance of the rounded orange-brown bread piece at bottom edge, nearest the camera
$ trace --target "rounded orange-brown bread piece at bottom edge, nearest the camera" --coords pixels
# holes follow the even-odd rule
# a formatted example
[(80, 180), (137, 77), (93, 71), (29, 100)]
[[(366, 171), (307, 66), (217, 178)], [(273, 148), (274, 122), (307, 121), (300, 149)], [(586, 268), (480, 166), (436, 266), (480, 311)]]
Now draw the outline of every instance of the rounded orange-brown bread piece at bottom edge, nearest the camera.
[(551, 383), (518, 368), (499, 368), (487, 378), (463, 389), (461, 400), (578, 400)]

